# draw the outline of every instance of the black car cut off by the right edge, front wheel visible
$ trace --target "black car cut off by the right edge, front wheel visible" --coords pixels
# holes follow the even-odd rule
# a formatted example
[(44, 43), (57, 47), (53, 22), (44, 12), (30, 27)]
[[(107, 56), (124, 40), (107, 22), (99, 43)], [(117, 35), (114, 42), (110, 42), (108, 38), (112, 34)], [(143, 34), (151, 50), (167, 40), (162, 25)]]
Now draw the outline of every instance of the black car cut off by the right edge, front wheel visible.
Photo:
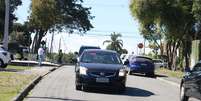
[(180, 84), (180, 99), (188, 101), (193, 97), (201, 100), (201, 61), (192, 70), (186, 70)]

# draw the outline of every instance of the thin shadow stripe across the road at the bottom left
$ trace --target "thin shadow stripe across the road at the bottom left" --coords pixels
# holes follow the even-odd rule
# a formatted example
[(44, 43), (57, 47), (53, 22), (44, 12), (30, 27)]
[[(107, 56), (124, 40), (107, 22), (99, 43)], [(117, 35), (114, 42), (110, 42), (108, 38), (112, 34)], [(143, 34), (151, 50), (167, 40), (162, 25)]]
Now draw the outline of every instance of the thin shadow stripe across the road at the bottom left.
[(57, 98), (57, 97), (26, 97), (31, 100), (62, 100), (62, 101), (86, 101), (86, 100), (76, 100), (76, 99), (67, 99), (67, 98)]

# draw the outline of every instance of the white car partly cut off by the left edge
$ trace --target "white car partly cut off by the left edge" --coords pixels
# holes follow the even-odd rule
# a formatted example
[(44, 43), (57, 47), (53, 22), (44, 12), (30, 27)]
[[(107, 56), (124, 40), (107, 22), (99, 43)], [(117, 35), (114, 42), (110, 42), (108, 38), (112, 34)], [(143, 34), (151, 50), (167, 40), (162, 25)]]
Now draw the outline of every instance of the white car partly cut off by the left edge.
[(0, 68), (6, 68), (11, 61), (11, 56), (8, 51), (0, 47)]

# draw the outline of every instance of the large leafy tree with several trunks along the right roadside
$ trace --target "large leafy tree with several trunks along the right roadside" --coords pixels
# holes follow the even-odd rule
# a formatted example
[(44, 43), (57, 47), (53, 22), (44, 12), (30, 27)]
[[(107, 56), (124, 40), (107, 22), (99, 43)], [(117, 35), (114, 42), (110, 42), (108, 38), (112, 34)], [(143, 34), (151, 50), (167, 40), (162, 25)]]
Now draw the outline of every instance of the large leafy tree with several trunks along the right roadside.
[[(157, 30), (164, 35), (167, 42), (169, 67), (176, 70), (177, 49), (182, 45), (186, 67), (189, 67), (190, 45), (195, 19), (191, 13), (192, 0), (132, 0), (130, 10), (140, 22), (141, 28), (150, 31)], [(156, 32), (154, 32), (156, 33)], [(147, 34), (147, 33), (142, 33)]]

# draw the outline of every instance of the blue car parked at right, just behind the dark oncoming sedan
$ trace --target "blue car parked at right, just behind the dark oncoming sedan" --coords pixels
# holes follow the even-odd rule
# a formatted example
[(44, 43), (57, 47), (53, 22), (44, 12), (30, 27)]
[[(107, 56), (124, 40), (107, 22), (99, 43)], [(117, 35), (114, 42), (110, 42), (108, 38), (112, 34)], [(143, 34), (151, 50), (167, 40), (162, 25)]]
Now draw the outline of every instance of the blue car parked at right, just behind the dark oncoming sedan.
[(145, 56), (131, 56), (125, 63), (130, 68), (129, 74), (142, 73), (147, 76), (154, 76), (155, 68), (153, 60)]

